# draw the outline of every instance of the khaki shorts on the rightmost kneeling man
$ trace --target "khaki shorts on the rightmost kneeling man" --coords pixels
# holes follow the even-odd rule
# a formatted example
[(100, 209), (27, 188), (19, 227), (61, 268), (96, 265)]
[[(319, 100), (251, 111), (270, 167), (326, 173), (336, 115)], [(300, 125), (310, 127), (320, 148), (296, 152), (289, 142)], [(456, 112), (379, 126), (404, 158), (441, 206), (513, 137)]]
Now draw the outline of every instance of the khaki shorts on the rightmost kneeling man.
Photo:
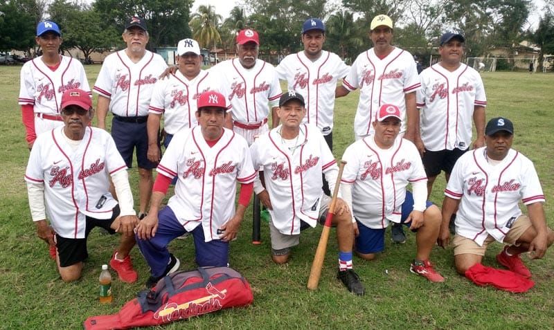
[[(510, 245), (519, 245), (516, 244), (516, 241), (519, 239), (519, 237), (521, 237), (521, 235), (524, 235), (524, 232), (526, 232), (526, 230), (530, 226), (533, 225), (529, 217), (521, 214), (519, 217), (517, 217), (516, 221), (514, 221), (514, 225), (508, 231), (506, 237), (504, 237), (504, 243)], [(479, 244), (476, 244), (473, 239), (468, 239), (467, 237), (456, 234), (456, 236), (454, 236), (454, 239), (452, 239), (452, 247), (454, 248), (454, 255), (471, 254), (484, 256), (485, 252), (487, 251), (487, 247), (493, 241), (496, 241), (496, 239), (489, 235), (483, 242), (483, 246), (479, 246)]]

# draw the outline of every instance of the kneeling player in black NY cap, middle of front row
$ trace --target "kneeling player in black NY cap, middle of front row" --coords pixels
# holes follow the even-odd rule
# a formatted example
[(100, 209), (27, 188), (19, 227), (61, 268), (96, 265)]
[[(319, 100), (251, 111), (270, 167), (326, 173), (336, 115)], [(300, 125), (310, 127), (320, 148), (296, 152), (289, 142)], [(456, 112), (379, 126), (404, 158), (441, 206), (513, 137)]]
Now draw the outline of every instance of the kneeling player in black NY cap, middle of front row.
[[(255, 192), (269, 210), (271, 220), (271, 257), (276, 264), (288, 261), (291, 248), (298, 245), (300, 232), (323, 222), (330, 198), (321, 190), (321, 174), (331, 189), (337, 181), (337, 161), (319, 129), (302, 124), (306, 116), (304, 98), (289, 91), (281, 96), (277, 110), (281, 125), (258, 138), (250, 147), (254, 168), (262, 168), (262, 181), (256, 180)], [(337, 199), (333, 224), (339, 241), (339, 273), (348, 290), (364, 295), (364, 285), (352, 270), (352, 215)]]

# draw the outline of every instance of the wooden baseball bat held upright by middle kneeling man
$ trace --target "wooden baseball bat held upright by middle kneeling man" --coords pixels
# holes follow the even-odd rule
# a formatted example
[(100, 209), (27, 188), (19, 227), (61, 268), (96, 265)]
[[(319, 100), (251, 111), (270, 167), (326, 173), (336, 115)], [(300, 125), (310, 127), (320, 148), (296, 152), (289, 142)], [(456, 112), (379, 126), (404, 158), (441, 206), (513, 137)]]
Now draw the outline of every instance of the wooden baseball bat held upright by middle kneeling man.
[(339, 194), (339, 186), (341, 185), (342, 171), (346, 165), (346, 161), (339, 163), (339, 175), (337, 176), (337, 183), (334, 184), (333, 195), (327, 217), (325, 218), (325, 225), (323, 231), (321, 231), (321, 237), (319, 238), (319, 244), (317, 244), (316, 255), (314, 256), (314, 262), (312, 263), (312, 270), (310, 271), (310, 277), (307, 280), (307, 288), (315, 290), (319, 284), (319, 277), (321, 276), (321, 268), (323, 268), (323, 260), (325, 259), (325, 251), (327, 250), (327, 241), (329, 240), (329, 232), (331, 230), (331, 223), (333, 221), (334, 204), (337, 203), (337, 194)]

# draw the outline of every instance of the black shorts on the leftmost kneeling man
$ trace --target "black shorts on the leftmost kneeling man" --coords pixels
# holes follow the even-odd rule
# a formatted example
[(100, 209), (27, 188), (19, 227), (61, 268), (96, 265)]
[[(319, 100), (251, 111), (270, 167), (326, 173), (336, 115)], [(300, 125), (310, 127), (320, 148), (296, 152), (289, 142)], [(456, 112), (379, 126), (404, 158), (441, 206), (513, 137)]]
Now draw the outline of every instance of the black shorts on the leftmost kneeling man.
[(116, 231), (111, 229), (110, 226), (118, 217), (119, 212), (119, 205), (116, 205), (110, 219), (86, 217), (87, 228), (84, 230), (84, 238), (82, 239), (71, 239), (56, 234), (55, 242), (57, 254), (60, 256), (60, 266), (67, 267), (78, 264), (89, 257), (89, 253), (87, 252), (87, 237), (89, 237), (89, 233), (93, 228), (104, 228), (110, 235), (114, 235)]

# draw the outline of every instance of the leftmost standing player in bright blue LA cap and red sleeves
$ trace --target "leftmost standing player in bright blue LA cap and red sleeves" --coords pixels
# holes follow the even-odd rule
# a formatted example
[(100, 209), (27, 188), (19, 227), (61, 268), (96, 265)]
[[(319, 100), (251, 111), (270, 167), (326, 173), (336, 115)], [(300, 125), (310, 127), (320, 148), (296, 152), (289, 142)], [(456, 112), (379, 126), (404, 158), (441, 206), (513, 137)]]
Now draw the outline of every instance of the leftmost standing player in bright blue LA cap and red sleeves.
[(42, 56), (26, 62), (21, 68), (18, 101), (29, 149), (39, 134), (64, 125), (60, 115), (64, 91), (78, 88), (90, 93), (81, 62), (60, 55), (62, 33), (57, 24), (40, 22), (35, 40)]

